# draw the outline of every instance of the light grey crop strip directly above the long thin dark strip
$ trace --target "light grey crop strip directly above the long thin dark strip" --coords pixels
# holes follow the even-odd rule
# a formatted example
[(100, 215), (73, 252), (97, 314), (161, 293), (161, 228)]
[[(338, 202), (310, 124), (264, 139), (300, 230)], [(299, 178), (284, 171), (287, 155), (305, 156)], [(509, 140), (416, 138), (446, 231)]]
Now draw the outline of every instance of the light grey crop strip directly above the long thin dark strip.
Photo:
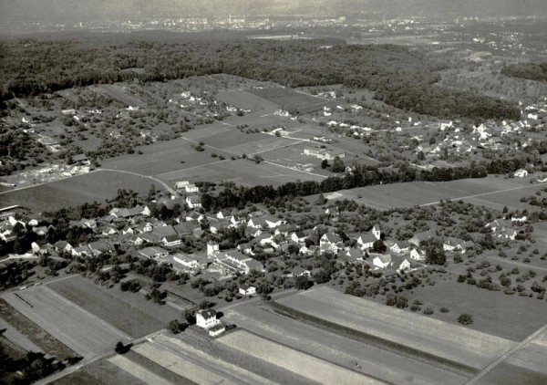
[(505, 338), (344, 295), (325, 286), (277, 302), (344, 328), (475, 369), (486, 367), (515, 345)]

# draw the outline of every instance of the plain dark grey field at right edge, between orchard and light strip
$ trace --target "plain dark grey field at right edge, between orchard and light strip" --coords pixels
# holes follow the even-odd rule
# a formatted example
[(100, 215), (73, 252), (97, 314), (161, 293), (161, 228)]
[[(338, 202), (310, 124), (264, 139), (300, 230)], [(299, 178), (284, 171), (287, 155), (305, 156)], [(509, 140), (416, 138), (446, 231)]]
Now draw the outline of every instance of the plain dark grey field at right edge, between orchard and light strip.
[(438, 280), (435, 286), (415, 288), (410, 302), (414, 299), (419, 299), (426, 307), (448, 307), (450, 310), (445, 314), (436, 311), (431, 317), (455, 322), (459, 314), (470, 313), (474, 321), (468, 328), (514, 341), (527, 338), (547, 322), (547, 307), (538, 306), (536, 298), (506, 296), (459, 284), (455, 278)]

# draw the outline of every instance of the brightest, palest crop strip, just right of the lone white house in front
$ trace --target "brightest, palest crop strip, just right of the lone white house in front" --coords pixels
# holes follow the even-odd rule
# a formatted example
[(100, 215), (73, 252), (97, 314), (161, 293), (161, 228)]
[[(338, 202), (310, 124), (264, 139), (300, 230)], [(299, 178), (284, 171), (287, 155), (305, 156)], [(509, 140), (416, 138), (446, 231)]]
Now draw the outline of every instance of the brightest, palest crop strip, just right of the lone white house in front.
[(303, 354), (243, 330), (227, 334), (219, 338), (219, 341), (230, 348), (238, 349), (253, 357), (298, 373), (309, 380), (337, 384), (381, 383), (381, 381), (366, 377), (353, 370)]

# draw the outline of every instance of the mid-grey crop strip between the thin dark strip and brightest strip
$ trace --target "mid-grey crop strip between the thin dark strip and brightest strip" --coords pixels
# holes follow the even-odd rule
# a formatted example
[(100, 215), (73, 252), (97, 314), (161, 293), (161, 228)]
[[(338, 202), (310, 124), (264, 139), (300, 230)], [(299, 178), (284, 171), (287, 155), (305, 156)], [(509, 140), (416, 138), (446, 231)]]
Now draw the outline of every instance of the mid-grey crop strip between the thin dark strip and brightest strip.
[(225, 311), (222, 319), (288, 348), (389, 383), (460, 384), (466, 380), (465, 376), (453, 371), (387, 349), (377, 349), (324, 328), (315, 328), (271, 309), (240, 306), (237, 310)]

